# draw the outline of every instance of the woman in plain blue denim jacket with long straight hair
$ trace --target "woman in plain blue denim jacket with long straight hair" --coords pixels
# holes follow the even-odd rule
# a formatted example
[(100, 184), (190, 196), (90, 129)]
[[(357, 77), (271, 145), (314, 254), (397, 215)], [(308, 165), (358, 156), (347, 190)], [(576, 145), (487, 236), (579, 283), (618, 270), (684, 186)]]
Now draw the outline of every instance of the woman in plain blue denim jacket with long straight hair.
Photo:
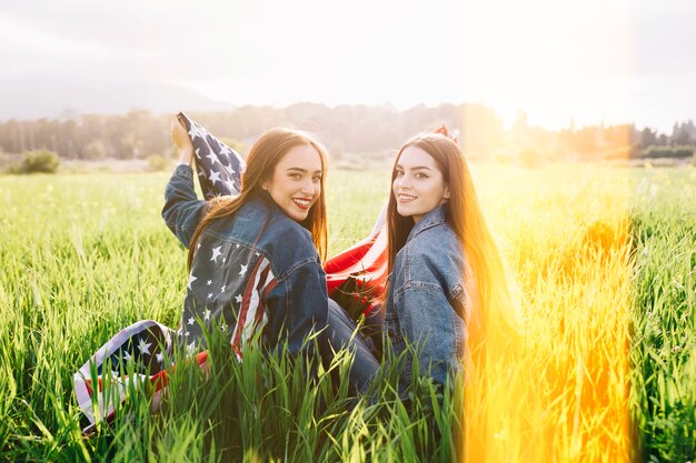
[[(467, 345), (480, 345), (488, 322), (509, 306), (500, 255), (456, 142), (428, 133), (401, 147), (387, 228), (385, 330), (392, 353), (415, 346), (419, 373), (444, 384), (461, 371)], [(410, 351), (406, 359), (402, 386), (410, 382)]]

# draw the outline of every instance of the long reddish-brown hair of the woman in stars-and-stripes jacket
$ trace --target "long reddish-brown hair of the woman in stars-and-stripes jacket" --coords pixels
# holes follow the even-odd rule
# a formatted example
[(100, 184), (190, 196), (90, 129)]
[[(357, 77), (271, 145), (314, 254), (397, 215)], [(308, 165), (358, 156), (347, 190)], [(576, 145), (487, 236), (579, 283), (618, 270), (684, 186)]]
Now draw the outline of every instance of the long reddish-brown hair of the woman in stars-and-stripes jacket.
[(272, 201), (261, 189), (261, 184), (270, 179), (276, 165), (284, 155), (295, 147), (310, 145), (319, 153), (321, 159), (321, 192), (315, 204), (309, 210), (307, 219), (299, 222), (309, 230), (311, 239), (317, 248), (321, 261), (327, 252), (327, 217), (325, 179), (327, 174), (327, 154), (325, 148), (308, 134), (292, 129), (270, 129), (259, 137), (247, 155), (247, 169), (241, 177), (241, 193), (238, 197), (218, 197), (209, 201), (208, 211), (196, 228), (189, 243), (188, 268), (191, 269), (196, 242), (200, 234), (216, 219), (232, 218), (250, 198), (258, 197)]

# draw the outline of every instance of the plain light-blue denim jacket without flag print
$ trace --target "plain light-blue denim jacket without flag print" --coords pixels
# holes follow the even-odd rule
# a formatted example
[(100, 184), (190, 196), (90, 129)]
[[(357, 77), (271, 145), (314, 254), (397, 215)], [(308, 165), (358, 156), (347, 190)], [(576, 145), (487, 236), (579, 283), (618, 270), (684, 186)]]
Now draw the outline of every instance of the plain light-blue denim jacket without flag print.
[[(465, 321), (471, 310), (467, 288), (474, 282), (461, 244), (445, 220), (445, 208), (416, 223), (397, 253), (385, 309), (392, 354), (404, 353), (407, 344), (415, 346), (419, 373), (439, 384), (463, 368)], [(411, 370), (407, 352), (401, 389), (410, 383)]]

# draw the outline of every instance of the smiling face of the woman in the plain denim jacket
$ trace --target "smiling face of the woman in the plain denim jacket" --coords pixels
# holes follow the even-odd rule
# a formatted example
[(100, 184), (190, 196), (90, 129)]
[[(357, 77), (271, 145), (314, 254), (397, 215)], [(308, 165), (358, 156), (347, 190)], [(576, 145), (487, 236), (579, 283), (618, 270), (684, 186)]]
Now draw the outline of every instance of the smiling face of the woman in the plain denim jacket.
[(395, 167), (391, 192), (396, 198), (397, 212), (420, 219), (449, 199), (449, 188), (435, 159), (417, 147), (406, 147)]

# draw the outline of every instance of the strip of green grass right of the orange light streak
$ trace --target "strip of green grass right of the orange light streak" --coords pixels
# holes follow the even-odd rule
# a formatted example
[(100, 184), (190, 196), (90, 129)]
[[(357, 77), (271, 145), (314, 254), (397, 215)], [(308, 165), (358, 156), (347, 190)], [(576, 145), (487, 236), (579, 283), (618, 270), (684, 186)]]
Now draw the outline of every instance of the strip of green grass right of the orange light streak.
[(632, 405), (646, 461), (696, 459), (696, 181), (645, 178), (633, 214)]

